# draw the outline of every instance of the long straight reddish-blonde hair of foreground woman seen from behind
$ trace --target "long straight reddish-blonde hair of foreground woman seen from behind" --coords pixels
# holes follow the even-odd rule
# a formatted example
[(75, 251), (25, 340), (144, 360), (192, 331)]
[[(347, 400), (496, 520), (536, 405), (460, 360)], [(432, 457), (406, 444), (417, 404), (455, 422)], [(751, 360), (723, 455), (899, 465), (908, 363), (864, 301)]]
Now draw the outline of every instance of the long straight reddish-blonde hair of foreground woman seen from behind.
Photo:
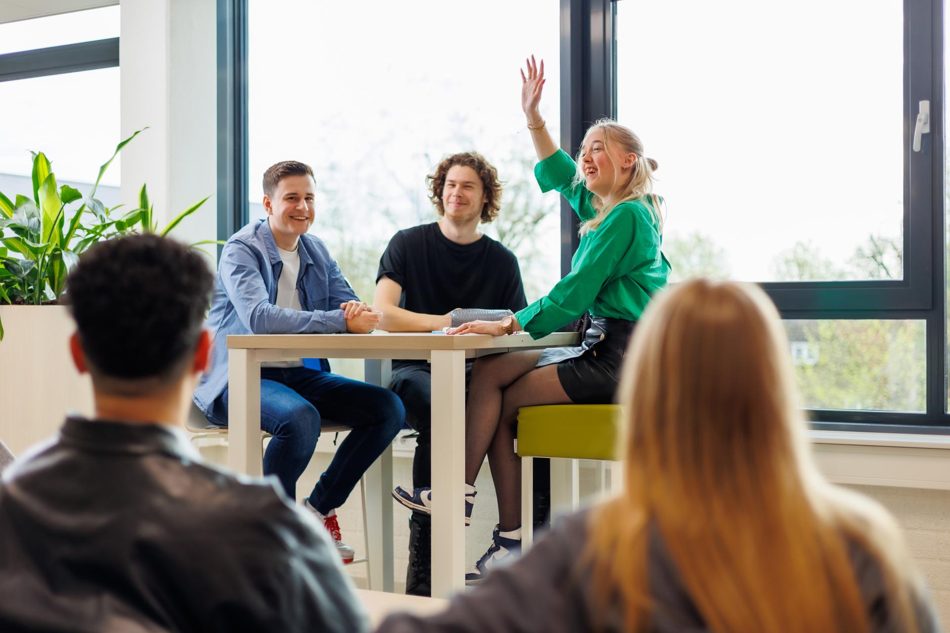
[(880, 506), (814, 465), (788, 340), (757, 287), (693, 280), (637, 326), (621, 383), (624, 490), (591, 515), (596, 595), (649, 629), (651, 531), (710, 630), (866, 631), (848, 554), (883, 570), (897, 630), (918, 630), (909, 557)]

